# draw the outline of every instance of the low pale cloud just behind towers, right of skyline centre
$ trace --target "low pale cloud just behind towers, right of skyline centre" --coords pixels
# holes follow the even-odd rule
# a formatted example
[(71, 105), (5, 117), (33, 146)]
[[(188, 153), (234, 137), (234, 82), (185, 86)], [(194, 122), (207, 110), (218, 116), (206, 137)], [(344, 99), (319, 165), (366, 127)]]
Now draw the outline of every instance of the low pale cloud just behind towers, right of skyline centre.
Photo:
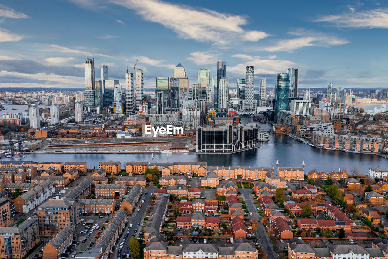
[(293, 61), (281, 60), (281, 59), (267, 59), (258, 56), (249, 56), (247, 54), (236, 54), (234, 58), (244, 59), (244, 63), (237, 64), (235, 66), (228, 66), (228, 73), (236, 73), (241, 75), (245, 73), (245, 66), (255, 65), (255, 74), (276, 74), (279, 71), (287, 70), (296, 64)]

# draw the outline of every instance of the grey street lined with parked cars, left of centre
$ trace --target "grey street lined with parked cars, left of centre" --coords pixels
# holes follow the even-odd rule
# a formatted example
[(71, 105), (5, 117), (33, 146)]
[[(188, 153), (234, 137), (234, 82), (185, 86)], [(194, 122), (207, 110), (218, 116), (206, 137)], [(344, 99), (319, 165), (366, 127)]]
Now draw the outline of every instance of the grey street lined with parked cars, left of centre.
[[(137, 204), (137, 206), (135, 208), (135, 212), (133, 213), (133, 215), (128, 217), (127, 227), (125, 229), (123, 229), (123, 234), (121, 235), (120, 239), (118, 240), (118, 242), (116, 244), (116, 249), (114, 249), (113, 258), (117, 258), (117, 256), (118, 256), (118, 250), (120, 247), (120, 243), (121, 243), (121, 240), (124, 238), (127, 229), (130, 229), (130, 231), (129, 231), (128, 236), (124, 242), (123, 249), (121, 249), (120, 254), (123, 254), (123, 253), (130, 254), (130, 251), (128, 249), (129, 240), (131, 239), (133, 234), (136, 234), (135, 237), (139, 236), (139, 233), (141, 232), (141, 229), (142, 229), (142, 224), (143, 224), (143, 219), (144, 219), (144, 214), (146, 212), (146, 209), (147, 209), (149, 204), (152, 205), (152, 203), (150, 203), (149, 201), (151, 199), (151, 193), (153, 193), (154, 191), (155, 191), (155, 186), (151, 186), (148, 189), (143, 190), (144, 194), (142, 197), (140, 197), (139, 203)], [(148, 194), (145, 195), (145, 193), (148, 193)], [(144, 203), (141, 203), (143, 198), (145, 199), (145, 201), (144, 201)], [(137, 209), (139, 208), (140, 204), (142, 204), (143, 206), (140, 208), (140, 211), (138, 212)], [(139, 227), (137, 227), (137, 223), (140, 223)], [(132, 228), (129, 227), (130, 224), (133, 224)], [(136, 233), (135, 233), (135, 229), (138, 229)], [(142, 253), (142, 251), (140, 251), (140, 253)], [(122, 256), (121, 256), (121, 258), (122, 258)]]

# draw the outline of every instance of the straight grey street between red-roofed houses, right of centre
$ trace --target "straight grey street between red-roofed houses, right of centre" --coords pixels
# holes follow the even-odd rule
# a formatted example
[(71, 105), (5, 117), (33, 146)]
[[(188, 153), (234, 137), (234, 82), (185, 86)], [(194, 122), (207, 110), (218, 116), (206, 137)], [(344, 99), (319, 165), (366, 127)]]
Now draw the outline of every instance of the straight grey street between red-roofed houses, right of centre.
[(273, 248), (274, 245), (272, 245), (272, 243), (269, 242), (269, 236), (267, 235), (267, 231), (265, 230), (264, 225), (262, 224), (261, 217), (257, 212), (255, 204), (253, 204), (253, 199), (251, 196), (252, 190), (240, 188), (239, 192), (242, 194), (242, 198), (245, 201), (245, 205), (247, 209), (249, 210), (249, 212), (252, 212), (254, 219), (258, 222), (257, 234), (259, 236), (258, 242), (260, 243), (261, 249), (267, 251), (268, 259), (277, 259), (278, 256), (274, 252), (274, 248)]

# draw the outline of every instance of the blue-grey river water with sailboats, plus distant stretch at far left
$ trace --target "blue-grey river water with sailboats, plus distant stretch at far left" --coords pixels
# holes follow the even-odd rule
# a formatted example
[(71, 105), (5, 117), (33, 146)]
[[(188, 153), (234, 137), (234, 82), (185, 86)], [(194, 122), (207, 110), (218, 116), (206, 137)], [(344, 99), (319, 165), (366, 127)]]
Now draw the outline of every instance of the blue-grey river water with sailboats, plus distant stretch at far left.
[[(27, 105), (3, 105), (4, 108), (16, 107), (24, 111)], [(20, 108), (19, 108), (20, 107)], [(10, 110), (4, 110), (7, 112)], [(16, 110), (13, 110), (16, 112)], [(251, 118), (243, 117), (243, 124), (253, 122)], [(256, 122), (254, 122), (256, 123)], [(262, 129), (270, 129), (270, 124), (257, 122)], [(101, 161), (120, 161), (125, 168), (126, 162), (173, 162), (173, 161), (204, 161), (210, 166), (301, 166), (305, 162), (305, 172), (316, 168), (324, 172), (338, 171), (345, 167), (350, 171), (352, 166), (357, 166), (363, 173), (368, 168), (381, 166), (388, 169), (388, 159), (377, 155), (353, 154), (343, 151), (331, 151), (310, 147), (307, 144), (297, 142), (286, 135), (270, 134), (268, 142), (262, 142), (261, 147), (236, 154), (28, 154), (22, 160), (31, 161), (86, 161), (88, 168), (98, 168)], [(276, 159), (279, 165), (276, 165)], [(5, 159), (2, 159), (5, 160)], [(17, 160), (17, 159), (15, 159)]]

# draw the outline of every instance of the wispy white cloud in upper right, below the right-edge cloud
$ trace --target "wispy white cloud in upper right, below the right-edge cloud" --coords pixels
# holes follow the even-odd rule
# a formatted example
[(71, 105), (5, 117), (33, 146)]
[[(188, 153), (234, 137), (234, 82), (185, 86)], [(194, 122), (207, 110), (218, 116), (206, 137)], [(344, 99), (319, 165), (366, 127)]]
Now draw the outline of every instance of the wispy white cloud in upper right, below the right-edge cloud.
[(345, 39), (340, 39), (333, 35), (326, 33), (319, 33), (314, 31), (297, 30), (289, 32), (291, 35), (299, 36), (298, 38), (288, 40), (278, 40), (274, 46), (265, 47), (266, 51), (293, 51), (302, 47), (329, 47), (336, 45), (343, 45), (349, 43)]

